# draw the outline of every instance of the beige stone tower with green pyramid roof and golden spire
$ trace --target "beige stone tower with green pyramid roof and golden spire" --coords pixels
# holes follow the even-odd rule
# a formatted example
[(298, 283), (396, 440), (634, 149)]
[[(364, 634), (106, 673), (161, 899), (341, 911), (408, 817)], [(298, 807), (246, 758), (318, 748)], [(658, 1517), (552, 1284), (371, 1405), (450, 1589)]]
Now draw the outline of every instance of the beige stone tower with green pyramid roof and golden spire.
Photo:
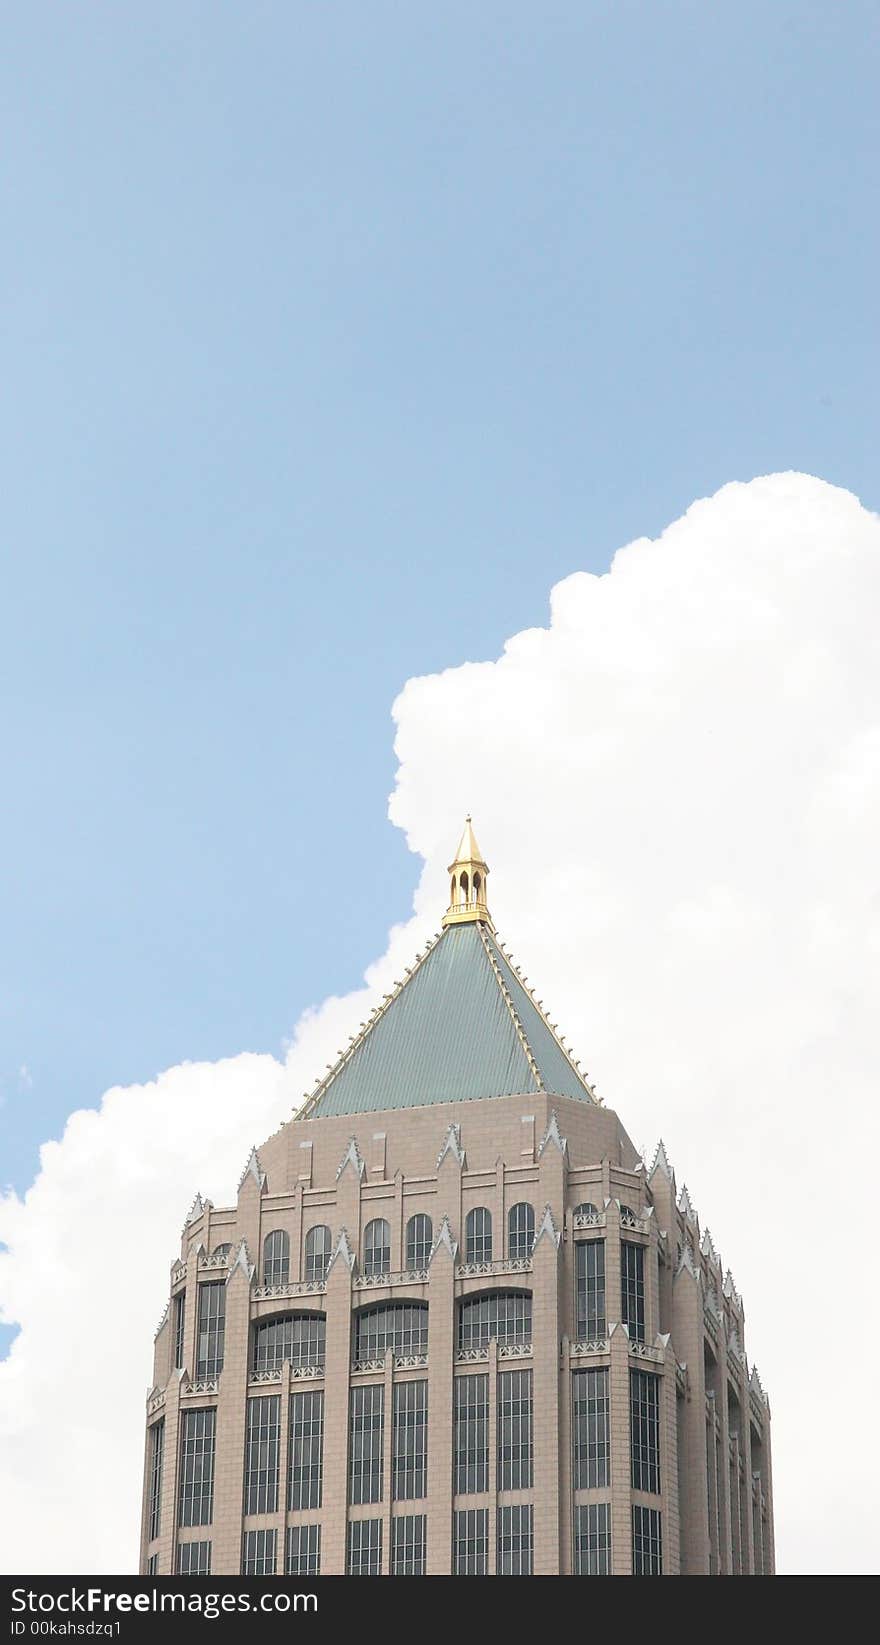
[(239, 1201), (196, 1198), (146, 1402), (148, 1574), (763, 1574), (770, 1408), (646, 1168), (495, 933), (442, 931)]

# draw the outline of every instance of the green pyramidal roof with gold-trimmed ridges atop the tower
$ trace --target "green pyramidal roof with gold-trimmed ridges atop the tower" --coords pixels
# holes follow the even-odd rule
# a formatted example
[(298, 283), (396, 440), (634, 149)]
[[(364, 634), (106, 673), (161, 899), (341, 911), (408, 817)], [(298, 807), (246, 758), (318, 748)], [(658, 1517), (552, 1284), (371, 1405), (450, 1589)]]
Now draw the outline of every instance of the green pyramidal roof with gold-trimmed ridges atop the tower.
[(536, 1091), (595, 1102), (489, 926), (470, 921), (431, 944), (299, 1117)]

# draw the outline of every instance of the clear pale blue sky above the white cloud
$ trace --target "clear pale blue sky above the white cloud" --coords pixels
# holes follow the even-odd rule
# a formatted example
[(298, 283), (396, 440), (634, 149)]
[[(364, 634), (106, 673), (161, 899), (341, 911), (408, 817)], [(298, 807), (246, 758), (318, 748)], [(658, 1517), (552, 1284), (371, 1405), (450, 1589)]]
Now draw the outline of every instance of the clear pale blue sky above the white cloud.
[(878, 33), (3, 7), (3, 1183), (359, 982), (408, 676), (729, 479), (878, 505)]

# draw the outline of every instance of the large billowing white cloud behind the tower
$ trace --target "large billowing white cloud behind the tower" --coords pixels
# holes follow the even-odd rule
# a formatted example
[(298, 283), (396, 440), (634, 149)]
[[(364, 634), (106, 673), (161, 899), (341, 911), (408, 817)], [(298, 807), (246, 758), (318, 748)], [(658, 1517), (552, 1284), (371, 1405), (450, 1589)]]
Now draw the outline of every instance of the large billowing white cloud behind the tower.
[(109, 1092), (46, 1145), (25, 1201), (0, 1201), (0, 1303), (21, 1323), (0, 1365), (10, 1569), (132, 1569), (186, 1206), (232, 1193), (436, 928), (465, 809), (503, 938), (637, 1143), (665, 1135), (734, 1268), (773, 1403), (780, 1563), (875, 1568), (878, 609), (877, 517), (773, 475), (566, 579), (551, 627), (497, 663), (406, 684), (391, 816), (426, 867), (367, 989), (309, 1013), (286, 1064)]

